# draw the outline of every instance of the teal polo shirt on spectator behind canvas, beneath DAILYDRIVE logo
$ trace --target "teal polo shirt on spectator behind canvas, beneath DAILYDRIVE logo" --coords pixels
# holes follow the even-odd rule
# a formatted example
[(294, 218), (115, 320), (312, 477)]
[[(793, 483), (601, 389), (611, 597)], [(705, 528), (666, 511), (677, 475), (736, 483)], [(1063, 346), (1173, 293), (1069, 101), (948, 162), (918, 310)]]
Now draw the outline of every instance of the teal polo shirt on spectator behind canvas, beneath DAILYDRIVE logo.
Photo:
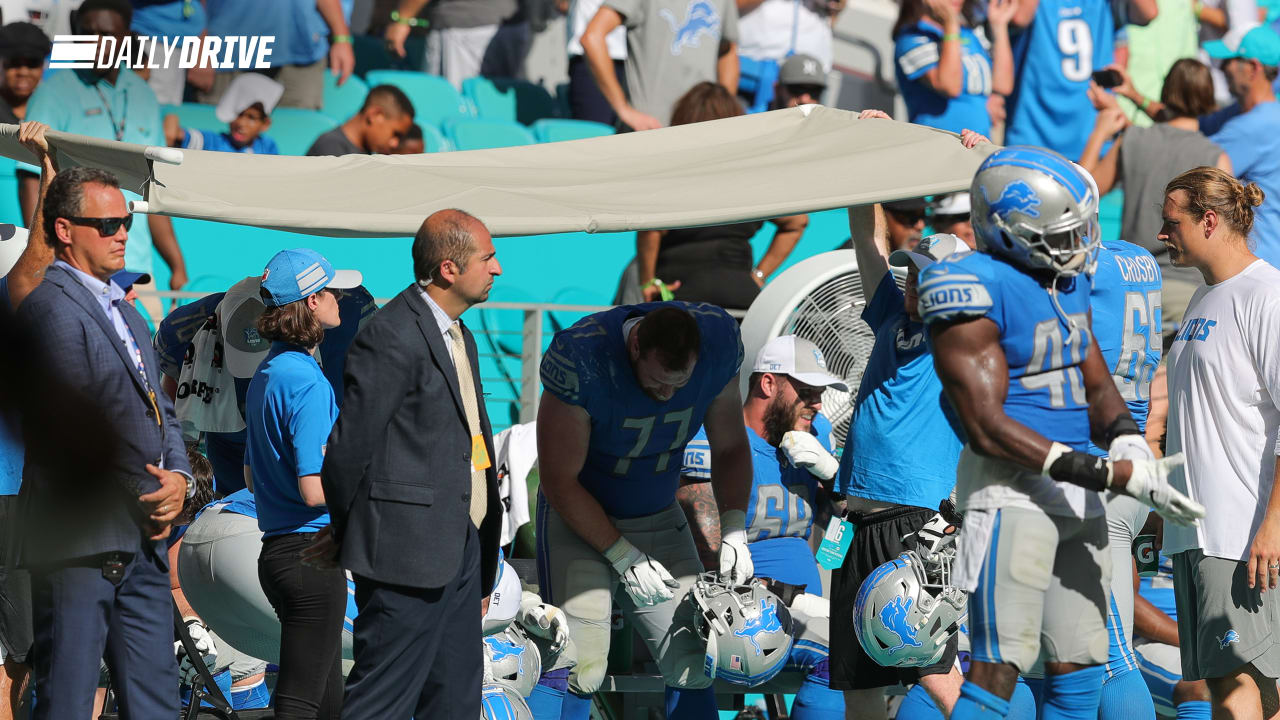
[[(27, 105), (27, 119), (90, 137), (165, 145), (156, 95), (128, 68), (120, 68), (114, 86), (90, 70), (46, 73)], [(19, 168), (40, 172), (27, 164)], [(142, 200), (136, 192), (122, 191), (127, 201)], [(134, 218), (124, 247), (124, 266), (140, 273), (151, 272), (151, 229), (146, 219), (146, 215)]]

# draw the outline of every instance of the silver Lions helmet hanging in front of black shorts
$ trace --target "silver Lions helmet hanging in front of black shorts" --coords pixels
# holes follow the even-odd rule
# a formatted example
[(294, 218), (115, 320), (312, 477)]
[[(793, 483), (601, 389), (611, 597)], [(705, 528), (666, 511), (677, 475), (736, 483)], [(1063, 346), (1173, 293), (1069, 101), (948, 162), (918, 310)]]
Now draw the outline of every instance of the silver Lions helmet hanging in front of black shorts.
[(960, 630), (965, 593), (951, 587), (955, 550), (923, 560), (906, 551), (863, 580), (854, 600), (854, 633), (876, 662), (886, 667), (937, 664)]

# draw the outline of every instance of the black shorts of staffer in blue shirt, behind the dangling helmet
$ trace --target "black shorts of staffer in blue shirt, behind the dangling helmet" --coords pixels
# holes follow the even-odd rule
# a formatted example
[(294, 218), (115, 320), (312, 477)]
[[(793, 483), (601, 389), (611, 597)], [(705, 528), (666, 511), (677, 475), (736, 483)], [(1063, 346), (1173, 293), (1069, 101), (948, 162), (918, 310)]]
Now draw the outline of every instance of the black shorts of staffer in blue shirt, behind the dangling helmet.
[(831, 574), (831, 687), (837, 691), (883, 688), (899, 683), (909, 685), (923, 675), (951, 671), (956, 659), (957, 638), (951, 638), (937, 665), (928, 667), (884, 667), (872, 660), (854, 634), (854, 600), (863, 579), (877, 568), (893, 560), (906, 546), (902, 536), (924, 527), (936, 510), (902, 505), (870, 515), (850, 516), (856, 525), (854, 542), (844, 565)]

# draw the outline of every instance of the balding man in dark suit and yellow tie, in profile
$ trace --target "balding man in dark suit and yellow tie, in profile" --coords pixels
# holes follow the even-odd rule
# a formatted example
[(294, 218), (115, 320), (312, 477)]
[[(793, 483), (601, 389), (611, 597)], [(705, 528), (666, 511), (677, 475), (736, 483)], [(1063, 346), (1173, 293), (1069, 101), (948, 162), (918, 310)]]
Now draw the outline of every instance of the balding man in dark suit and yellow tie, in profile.
[(347, 352), (342, 414), (321, 479), (330, 537), (356, 580), (344, 719), (480, 716), (480, 602), (502, 521), (493, 433), (471, 332), (458, 319), (502, 274), (461, 210), (413, 238), (416, 283)]

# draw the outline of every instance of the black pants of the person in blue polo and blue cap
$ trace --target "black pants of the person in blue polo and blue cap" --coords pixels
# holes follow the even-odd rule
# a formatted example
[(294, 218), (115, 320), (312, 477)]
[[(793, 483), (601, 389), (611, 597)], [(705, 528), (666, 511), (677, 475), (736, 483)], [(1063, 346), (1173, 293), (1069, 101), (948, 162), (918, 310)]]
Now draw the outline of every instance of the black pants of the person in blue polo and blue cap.
[(347, 577), (302, 565), (315, 533), (262, 539), (257, 579), (280, 619), (280, 674), (275, 717), (337, 719), (342, 712), (342, 621)]

